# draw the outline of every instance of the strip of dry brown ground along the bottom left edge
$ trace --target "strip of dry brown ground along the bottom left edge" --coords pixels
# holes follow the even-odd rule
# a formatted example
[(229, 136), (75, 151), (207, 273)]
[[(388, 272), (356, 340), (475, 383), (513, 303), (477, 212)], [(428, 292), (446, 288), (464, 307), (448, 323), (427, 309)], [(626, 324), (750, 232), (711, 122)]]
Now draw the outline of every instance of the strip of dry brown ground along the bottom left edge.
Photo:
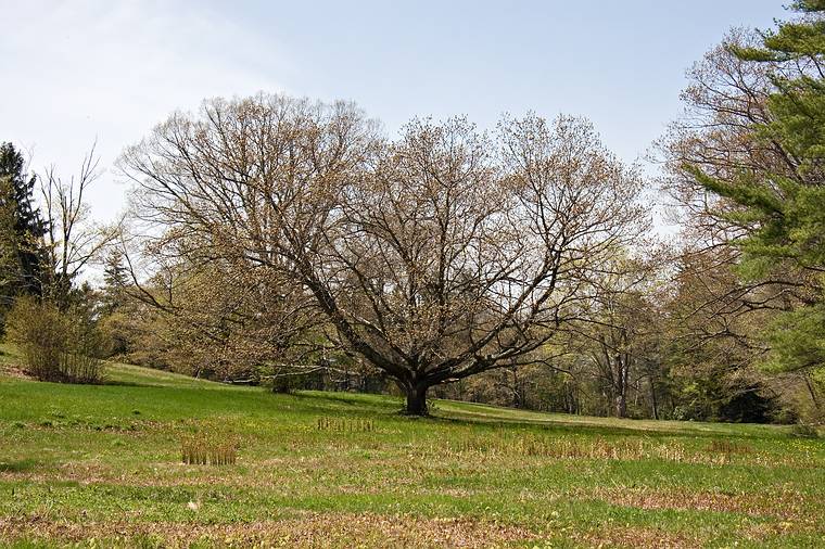
[[(196, 513), (196, 509), (192, 512)], [(0, 519), (0, 539), (76, 542), (91, 538), (116, 546), (132, 546), (141, 540), (163, 547), (189, 547), (194, 541), (203, 541), (229, 547), (482, 548), (535, 540), (537, 536), (521, 527), (491, 522), (369, 513), (302, 513), (280, 521), (245, 524), (71, 523), (38, 516)]]

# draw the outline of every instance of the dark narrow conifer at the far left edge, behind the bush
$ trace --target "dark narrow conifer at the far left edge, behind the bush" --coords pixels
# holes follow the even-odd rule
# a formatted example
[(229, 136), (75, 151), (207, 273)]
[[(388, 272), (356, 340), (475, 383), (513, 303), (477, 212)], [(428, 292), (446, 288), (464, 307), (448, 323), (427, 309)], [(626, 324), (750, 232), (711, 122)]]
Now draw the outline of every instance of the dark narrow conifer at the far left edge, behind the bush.
[[(11, 143), (0, 144), (0, 179), (5, 183), (0, 188), (0, 208), (13, 210), (12, 234), (3, 237), (3, 245), (14, 241), (20, 272), (16, 291), (41, 294), (41, 270), (43, 268), (42, 237), (46, 227), (40, 212), (34, 204), (36, 176), (27, 177), (23, 155)], [(5, 227), (4, 227), (5, 228)], [(12, 245), (12, 244), (9, 244)]]

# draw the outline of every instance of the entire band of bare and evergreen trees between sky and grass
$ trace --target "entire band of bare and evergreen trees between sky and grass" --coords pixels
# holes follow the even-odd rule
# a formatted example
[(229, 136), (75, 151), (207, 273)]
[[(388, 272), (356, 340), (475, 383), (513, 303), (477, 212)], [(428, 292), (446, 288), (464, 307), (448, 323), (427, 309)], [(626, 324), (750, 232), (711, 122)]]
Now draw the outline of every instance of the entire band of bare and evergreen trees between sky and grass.
[[(689, 71), (657, 180), (581, 118), (414, 119), (391, 138), (353, 103), (261, 93), (128, 148), (130, 214), (100, 227), (93, 154), (38, 178), (3, 145), (7, 336), (29, 362), (394, 392), (409, 414), (440, 396), (821, 421), (825, 4), (792, 9)], [(653, 188), (677, 239), (651, 226)], [(93, 260), (99, 288), (81, 283)]]

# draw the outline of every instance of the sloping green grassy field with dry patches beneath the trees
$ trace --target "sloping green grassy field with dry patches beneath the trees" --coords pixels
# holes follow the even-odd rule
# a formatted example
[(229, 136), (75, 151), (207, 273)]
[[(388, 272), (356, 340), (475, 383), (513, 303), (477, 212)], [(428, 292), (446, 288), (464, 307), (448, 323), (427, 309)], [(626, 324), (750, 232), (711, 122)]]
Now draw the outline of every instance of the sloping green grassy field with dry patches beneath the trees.
[[(0, 546), (822, 547), (825, 441), (788, 427), (272, 395), (134, 366), (0, 368)], [(238, 443), (190, 465), (181, 439)]]

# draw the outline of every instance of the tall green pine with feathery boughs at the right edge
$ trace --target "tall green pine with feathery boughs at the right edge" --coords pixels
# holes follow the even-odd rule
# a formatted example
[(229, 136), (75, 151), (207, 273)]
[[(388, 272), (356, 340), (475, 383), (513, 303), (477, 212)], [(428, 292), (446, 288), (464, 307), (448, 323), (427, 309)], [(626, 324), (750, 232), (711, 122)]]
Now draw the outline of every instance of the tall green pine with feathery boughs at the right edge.
[(783, 169), (741, 169), (716, 178), (688, 166), (708, 190), (737, 208), (723, 214), (747, 235), (740, 273), (762, 279), (796, 271), (805, 295), (788, 304), (770, 327), (776, 370), (825, 367), (825, 0), (800, 0), (798, 21), (762, 34), (760, 47), (729, 47), (739, 60), (769, 71), (770, 119), (753, 124), (758, 140), (782, 151)]

